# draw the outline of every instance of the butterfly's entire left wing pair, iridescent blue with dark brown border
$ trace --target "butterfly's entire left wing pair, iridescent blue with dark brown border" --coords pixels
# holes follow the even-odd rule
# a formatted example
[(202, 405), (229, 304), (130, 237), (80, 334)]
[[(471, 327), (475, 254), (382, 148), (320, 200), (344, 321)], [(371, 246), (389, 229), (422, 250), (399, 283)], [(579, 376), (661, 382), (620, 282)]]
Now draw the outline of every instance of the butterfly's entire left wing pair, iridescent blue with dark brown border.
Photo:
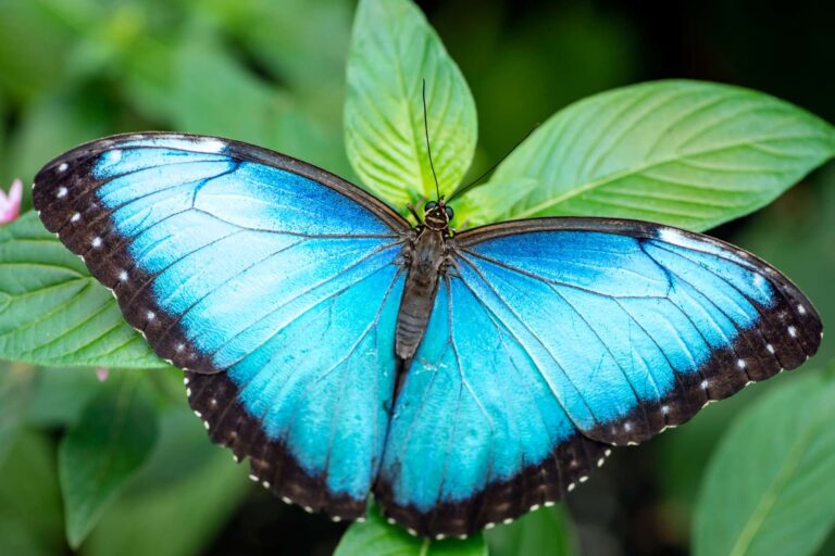
[(299, 161), (171, 134), (79, 147), (33, 194), (128, 323), (189, 371), (192, 408), (253, 479), (363, 515), (394, 389), (400, 216)]

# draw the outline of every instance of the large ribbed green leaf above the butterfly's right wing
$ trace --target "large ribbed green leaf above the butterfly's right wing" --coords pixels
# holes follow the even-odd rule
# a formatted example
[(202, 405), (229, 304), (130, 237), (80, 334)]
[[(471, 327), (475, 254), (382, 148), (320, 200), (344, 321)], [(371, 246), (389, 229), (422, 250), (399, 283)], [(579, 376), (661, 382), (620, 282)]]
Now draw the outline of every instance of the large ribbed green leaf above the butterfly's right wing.
[[(833, 127), (768, 94), (647, 83), (557, 113), (464, 205), (481, 207), (473, 224), (578, 215), (705, 230), (768, 204), (833, 154)], [(535, 186), (508, 203), (526, 180)]]

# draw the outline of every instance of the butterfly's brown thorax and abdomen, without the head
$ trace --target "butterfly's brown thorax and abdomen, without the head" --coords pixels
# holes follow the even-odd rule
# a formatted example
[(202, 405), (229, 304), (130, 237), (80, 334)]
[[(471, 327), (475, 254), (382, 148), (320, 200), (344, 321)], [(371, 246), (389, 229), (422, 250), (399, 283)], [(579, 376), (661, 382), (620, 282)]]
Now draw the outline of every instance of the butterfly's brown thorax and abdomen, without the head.
[(429, 323), (438, 278), (445, 258), (444, 236), (424, 228), (407, 248), (409, 275), (397, 315), (395, 350), (401, 359), (411, 359)]

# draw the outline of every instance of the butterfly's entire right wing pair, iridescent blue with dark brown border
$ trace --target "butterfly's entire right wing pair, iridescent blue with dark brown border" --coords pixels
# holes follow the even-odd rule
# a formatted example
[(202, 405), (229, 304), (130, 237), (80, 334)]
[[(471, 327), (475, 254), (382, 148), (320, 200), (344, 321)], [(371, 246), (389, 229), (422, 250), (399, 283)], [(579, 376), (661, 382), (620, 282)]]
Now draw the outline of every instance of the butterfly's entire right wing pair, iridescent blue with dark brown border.
[(787, 278), (705, 236), (554, 218), (454, 243), (375, 490), (425, 535), (550, 504), (609, 446), (682, 424), (820, 343)]

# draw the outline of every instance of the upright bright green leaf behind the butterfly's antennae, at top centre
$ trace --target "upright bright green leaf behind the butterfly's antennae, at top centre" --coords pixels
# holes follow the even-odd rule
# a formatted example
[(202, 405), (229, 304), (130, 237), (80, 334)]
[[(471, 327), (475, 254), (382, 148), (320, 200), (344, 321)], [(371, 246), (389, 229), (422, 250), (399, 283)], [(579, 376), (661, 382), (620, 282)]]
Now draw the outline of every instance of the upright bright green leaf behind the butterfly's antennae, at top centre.
[(346, 149), (369, 189), (398, 207), (435, 197), (423, 79), (435, 170), (441, 192), (450, 194), (475, 149), (475, 103), (466, 81), (411, 1), (361, 0), (348, 54)]

